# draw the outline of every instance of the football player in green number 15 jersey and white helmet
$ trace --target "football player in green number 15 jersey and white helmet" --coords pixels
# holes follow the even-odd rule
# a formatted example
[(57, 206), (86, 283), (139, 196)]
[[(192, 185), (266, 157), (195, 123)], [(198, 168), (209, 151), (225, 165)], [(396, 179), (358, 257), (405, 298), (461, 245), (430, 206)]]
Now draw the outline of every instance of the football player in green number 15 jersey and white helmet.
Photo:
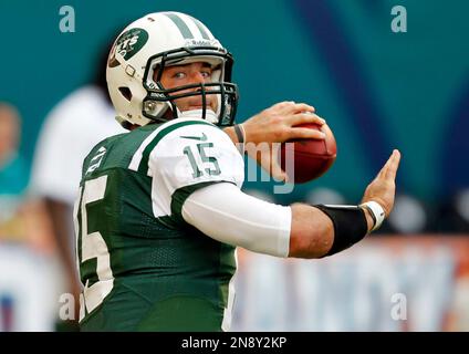
[(232, 63), (210, 30), (184, 13), (149, 13), (116, 39), (107, 83), (131, 132), (97, 144), (83, 164), (74, 212), (82, 330), (228, 331), (237, 246), (322, 258), (390, 212), (397, 150), (359, 206), (280, 206), (243, 194), (233, 143), (286, 138), (259, 129), (261, 121), (278, 127), (283, 116), (284, 131), (323, 122), (312, 106), (283, 102), (232, 126)]

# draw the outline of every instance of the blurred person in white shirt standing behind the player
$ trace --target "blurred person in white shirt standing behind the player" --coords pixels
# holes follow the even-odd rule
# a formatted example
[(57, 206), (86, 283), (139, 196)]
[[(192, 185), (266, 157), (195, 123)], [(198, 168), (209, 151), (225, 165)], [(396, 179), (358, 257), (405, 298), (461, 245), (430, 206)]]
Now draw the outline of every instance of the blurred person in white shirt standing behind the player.
[[(106, 43), (108, 44), (108, 43)], [(105, 67), (108, 45), (102, 45), (94, 80), (60, 101), (42, 126), (31, 176), (31, 204), (43, 210), (52, 223), (67, 287), (75, 299), (76, 324), (80, 280), (75, 263), (73, 204), (75, 202), (83, 159), (105, 137), (124, 133), (115, 121), (107, 93)]]

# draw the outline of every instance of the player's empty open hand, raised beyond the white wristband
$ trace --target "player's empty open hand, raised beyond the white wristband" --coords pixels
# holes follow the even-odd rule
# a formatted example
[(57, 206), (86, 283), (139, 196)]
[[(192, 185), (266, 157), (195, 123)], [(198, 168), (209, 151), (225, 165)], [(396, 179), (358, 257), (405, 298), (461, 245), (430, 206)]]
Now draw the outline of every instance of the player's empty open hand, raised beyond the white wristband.
[(378, 202), (383, 207), (386, 217), (389, 216), (394, 207), (395, 180), (399, 162), (400, 153), (395, 149), (375, 179), (366, 187), (362, 199), (362, 202), (372, 200)]

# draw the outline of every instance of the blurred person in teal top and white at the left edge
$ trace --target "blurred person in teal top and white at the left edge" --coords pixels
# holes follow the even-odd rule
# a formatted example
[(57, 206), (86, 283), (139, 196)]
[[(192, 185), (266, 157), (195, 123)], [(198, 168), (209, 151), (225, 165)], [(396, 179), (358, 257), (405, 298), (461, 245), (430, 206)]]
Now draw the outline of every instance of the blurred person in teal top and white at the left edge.
[(41, 210), (24, 205), (20, 131), (18, 110), (0, 103), (0, 331), (52, 331), (55, 246)]

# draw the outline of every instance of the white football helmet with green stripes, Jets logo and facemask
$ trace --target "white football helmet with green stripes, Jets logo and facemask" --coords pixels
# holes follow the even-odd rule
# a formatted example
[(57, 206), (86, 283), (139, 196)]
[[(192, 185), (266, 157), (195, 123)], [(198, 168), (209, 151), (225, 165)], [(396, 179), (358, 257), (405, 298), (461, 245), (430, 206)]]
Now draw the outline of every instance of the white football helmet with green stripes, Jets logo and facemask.
[[(199, 61), (212, 67), (209, 83), (166, 90), (159, 82), (165, 66)], [(206, 114), (204, 107), (201, 117), (220, 126), (232, 125), (238, 105), (238, 87), (230, 82), (232, 64), (231, 54), (197, 19), (180, 12), (146, 14), (124, 29), (107, 61), (107, 87), (116, 119), (126, 128), (166, 122), (180, 116), (174, 100), (201, 95), (205, 102), (211, 94), (217, 95), (217, 112)], [(178, 93), (187, 88), (190, 91)]]

